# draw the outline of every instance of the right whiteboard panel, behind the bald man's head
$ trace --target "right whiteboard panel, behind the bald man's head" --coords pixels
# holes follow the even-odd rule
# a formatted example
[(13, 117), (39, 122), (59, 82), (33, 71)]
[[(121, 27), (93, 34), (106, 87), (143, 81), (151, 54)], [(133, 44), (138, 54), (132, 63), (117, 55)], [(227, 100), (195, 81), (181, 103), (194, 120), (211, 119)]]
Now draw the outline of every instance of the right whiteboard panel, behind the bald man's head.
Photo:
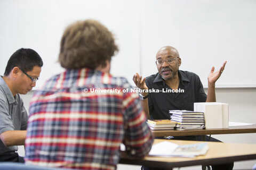
[(204, 87), (212, 66), (225, 71), (216, 87), (256, 87), (256, 1), (144, 1), (142, 74), (157, 72), (159, 48), (178, 49), (180, 70), (199, 75)]

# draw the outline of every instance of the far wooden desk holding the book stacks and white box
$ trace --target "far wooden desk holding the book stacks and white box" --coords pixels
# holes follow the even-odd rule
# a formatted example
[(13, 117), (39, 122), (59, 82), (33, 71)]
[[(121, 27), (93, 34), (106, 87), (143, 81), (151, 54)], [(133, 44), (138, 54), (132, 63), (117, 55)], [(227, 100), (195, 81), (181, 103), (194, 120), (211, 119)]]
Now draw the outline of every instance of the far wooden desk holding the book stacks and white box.
[(256, 133), (256, 125), (229, 126), (227, 129), (204, 129), (204, 130), (154, 130), (155, 137), (164, 136), (187, 136), (206, 134), (234, 134), (234, 133)]

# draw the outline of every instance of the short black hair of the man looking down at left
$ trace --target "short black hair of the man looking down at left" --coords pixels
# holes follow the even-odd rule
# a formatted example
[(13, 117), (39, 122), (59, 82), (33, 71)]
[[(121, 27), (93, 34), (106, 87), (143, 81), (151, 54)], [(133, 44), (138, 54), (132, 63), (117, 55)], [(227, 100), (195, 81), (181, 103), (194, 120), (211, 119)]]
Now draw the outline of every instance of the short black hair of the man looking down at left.
[(12, 54), (7, 62), (4, 75), (9, 75), (11, 70), (16, 66), (22, 71), (28, 72), (33, 70), (34, 66), (42, 67), (43, 61), (35, 50), (29, 48), (20, 48)]

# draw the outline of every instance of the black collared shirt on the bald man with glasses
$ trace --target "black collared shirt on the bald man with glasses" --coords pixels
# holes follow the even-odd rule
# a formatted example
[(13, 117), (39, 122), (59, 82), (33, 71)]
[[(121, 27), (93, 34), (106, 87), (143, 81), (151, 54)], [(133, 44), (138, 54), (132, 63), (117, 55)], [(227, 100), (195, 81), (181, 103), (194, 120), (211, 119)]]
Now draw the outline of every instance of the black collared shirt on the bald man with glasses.
[[(194, 103), (206, 101), (207, 96), (198, 75), (182, 70), (178, 71), (178, 75), (180, 78), (178, 90), (180, 92), (170, 92), (172, 89), (164, 83), (158, 73), (146, 78), (148, 89), (152, 89), (152, 92), (148, 93), (151, 119), (170, 119), (169, 110), (194, 111)], [(159, 92), (154, 92), (156, 89)]]

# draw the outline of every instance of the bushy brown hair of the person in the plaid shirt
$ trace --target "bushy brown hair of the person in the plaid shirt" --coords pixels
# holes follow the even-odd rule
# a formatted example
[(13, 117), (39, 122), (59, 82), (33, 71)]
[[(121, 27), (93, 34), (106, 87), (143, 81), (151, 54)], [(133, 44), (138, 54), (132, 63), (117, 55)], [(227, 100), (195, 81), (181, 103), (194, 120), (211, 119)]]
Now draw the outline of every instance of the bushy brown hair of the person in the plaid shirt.
[(95, 20), (78, 21), (63, 33), (59, 62), (65, 69), (96, 69), (105, 66), (115, 52), (114, 36), (104, 25)]

